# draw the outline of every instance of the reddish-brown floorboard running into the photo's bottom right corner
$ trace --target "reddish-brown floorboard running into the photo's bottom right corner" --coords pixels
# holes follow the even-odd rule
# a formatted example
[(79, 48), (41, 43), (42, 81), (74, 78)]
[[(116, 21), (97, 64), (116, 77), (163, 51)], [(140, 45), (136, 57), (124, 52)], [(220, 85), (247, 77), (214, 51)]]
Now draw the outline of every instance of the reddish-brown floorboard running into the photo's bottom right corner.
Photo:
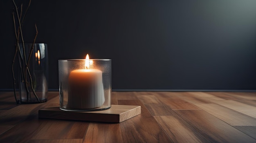
[(213, 143), (255, 143), (252, 137), (203, 110), (175, 110), (182, 119)]

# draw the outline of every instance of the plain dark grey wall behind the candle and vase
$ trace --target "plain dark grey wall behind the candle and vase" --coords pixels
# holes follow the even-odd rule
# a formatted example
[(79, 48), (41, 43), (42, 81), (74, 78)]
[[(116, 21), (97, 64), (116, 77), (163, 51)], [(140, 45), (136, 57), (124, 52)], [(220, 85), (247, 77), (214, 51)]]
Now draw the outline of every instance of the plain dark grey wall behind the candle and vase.
[[(20, 1), (18, 1), (20, 4)], [(11, 0), (0, 1), (1, 89), (12, 88)], [(256, 90), (256, 0), (32, 0), (25, 42), (58, 59), (112, 59), (113, 89)]]

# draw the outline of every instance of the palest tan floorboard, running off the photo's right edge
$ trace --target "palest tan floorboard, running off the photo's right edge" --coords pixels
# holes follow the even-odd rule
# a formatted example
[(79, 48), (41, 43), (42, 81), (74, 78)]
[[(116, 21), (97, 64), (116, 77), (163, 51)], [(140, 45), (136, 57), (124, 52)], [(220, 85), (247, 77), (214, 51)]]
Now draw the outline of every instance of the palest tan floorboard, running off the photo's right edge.
[(243, 114), (246, 114), (248, 116), (256, 118), (256, 107), (250, 106), (244, 103), (240, 103), (238, 101), (233, 100), (225, 100), (225, 101), (214, 101), (215, 103), (230, 108), (232, 110), (241, 112)]

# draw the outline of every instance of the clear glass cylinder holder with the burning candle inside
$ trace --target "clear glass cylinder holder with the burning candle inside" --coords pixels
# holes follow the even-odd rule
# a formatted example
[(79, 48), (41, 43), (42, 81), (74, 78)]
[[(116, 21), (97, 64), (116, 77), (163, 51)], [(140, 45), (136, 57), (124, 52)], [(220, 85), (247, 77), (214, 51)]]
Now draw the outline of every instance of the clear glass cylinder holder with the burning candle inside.
[(59, 59), (58, 76), (61, 110), (111, 107), (111, 59)]

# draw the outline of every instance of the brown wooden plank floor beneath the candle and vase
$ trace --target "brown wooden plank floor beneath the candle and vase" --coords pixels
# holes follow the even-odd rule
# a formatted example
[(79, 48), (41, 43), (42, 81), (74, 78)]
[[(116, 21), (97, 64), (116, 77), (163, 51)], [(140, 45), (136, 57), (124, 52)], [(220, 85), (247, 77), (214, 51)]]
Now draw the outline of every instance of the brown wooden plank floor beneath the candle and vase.
[(121, 123), (38, 119), (46, 103), (16, 105), (0, 92), (0, 143), (256, 143), (256, 92), (112, 92), (112, 104), (139, 105)]

